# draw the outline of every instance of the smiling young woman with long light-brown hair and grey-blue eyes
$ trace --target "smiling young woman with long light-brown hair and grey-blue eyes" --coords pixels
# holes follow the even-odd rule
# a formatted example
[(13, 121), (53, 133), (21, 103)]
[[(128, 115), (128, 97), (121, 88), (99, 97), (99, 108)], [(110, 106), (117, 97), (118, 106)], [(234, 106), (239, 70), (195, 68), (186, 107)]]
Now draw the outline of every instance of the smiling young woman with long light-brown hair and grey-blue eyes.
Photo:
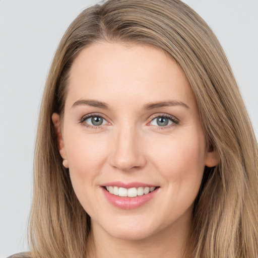
[(89, 8), (46, 82), (24, 256), (257, 257), (257, 157), (225, 54), (194, 11)]

